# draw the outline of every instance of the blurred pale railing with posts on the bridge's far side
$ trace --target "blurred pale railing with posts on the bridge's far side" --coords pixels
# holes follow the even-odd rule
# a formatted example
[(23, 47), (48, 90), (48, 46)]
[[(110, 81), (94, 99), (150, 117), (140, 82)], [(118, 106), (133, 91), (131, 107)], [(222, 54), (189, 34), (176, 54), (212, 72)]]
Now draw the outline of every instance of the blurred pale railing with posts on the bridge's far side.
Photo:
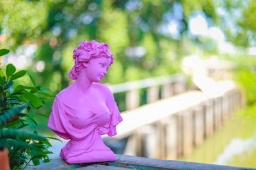
[[(175, 94), (181, 94), (186, 91), (186, 77), (183, 74), (171, 74), (156, 78), (147, 78), (144, 80), (129, 81), (116, 85), (108, 85), (114, 96), (118, 93), (125, 92), (124, 110), (132, 110), (140, 106), (140, 90), (147, 89), (147, 103), (164, 99)], [(118, 103), (119, 104), (119, 103)]]

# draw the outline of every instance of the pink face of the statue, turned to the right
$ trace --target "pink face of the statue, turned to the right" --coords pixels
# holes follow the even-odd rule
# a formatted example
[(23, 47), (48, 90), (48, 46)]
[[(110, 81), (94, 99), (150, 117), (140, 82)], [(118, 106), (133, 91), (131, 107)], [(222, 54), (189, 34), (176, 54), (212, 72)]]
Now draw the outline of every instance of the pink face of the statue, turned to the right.
[(100, 57), (93, 58), (88, 62), (88, 66), (85, 67), (85, 74), (88, 80), (92, 82), (99, 82), (107, 74), (108, 68), (110, 66), (111, 58)]

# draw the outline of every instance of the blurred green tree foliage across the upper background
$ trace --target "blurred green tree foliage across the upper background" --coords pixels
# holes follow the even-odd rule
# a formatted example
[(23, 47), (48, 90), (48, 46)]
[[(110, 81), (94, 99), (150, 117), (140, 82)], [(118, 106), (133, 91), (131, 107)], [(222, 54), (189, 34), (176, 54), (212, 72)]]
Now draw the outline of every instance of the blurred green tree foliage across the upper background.
[(198, 11), (229, 41), (252, 45), (255, 8), (253, 0), (0, 1), (0, 47), (36, 44), (31, 70), (40, 71), (38, 83), (58, 92), (70, 81), (74, 48), (84, 39), (104, 41), (115, 64), (103, 81), (120, 83), (179, 71), (189, 38), (216, 52), (210, 39), (189, 36), (189, 19)]

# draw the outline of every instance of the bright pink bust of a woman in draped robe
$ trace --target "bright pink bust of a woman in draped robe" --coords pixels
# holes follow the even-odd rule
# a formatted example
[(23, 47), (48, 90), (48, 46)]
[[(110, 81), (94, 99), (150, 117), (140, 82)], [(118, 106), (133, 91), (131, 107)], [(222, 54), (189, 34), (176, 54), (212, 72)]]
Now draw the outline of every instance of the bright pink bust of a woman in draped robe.
[(99, 82), (113, 63), (107, 43), (83, 41), (74, 50), (74, 67), (69, 76), (75, 83), (54, 99), (48, 127), (58, 136), (70, 139), (60, 156), (69, 164), (116, 160), (101, 135), (116, 135), (122, 122), (111, 91)]

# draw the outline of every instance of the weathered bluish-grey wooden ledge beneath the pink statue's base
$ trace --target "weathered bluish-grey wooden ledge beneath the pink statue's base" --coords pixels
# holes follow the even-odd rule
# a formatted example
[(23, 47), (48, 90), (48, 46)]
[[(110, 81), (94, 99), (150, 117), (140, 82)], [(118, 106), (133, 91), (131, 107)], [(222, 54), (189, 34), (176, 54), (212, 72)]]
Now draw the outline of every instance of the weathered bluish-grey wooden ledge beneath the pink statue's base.
[(246, 167), (220, 166), (215, 164), (201, 164), (179, 160), (159, 160), (145, 157), (133, 157), (116, 154), (114, 162), (95, 162), (89, 164), (67, 164), (65, 160), (55, 159), (51, 162), (29, 167), (28, 169), (253, 169)]

